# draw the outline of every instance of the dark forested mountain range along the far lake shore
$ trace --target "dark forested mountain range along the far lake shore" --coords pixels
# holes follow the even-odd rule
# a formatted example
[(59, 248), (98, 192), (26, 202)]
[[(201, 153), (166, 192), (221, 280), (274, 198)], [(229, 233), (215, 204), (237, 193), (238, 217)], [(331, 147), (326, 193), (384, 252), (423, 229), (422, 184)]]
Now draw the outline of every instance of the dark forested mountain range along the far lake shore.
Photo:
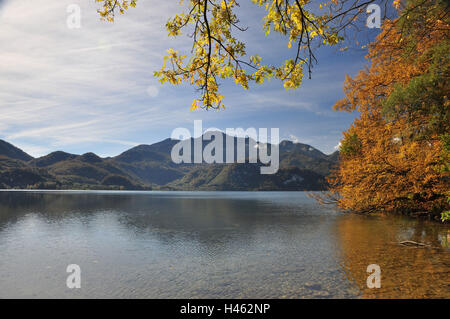
[[(217, 134), (223, 141), (228, 137)], [(238, 141), (245, 145), (246, 159), (250, 156), (251, 143), (256, 144), (255, 148), (272, 148), (270, 144), (258, 144), (249, 138), (233, 137), (232, 140), (235, 161)], [(33, 158), (0, 140), (0, 188), (313, 191), (326, 188), (326, 176), (338, 161), (337, 153), (325, 155), (307, 144), (282, 141), (278, 172), (261, 175), (263, 164), (248, 161), (242, 164), (176, 164), (171, 151), (178, 142), (165, 139), (152, 145), (139, 145), (109, 158), (62, 151)], [(211, 141), (192, 138), (190, 142), (193, 160), (194, 144), (198, 143), (203, 150)], [(225, 143), (223, 145), (225, 161), (227, 154)]]

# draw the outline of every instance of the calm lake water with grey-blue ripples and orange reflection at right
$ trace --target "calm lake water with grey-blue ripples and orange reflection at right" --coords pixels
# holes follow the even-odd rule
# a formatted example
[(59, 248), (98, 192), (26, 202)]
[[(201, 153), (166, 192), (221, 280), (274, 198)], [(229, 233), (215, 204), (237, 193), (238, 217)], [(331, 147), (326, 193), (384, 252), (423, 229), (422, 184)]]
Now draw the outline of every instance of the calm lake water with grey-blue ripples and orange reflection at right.
[(302, 192), (4, 191), (0, 298), (449, 298), (449, 238)]

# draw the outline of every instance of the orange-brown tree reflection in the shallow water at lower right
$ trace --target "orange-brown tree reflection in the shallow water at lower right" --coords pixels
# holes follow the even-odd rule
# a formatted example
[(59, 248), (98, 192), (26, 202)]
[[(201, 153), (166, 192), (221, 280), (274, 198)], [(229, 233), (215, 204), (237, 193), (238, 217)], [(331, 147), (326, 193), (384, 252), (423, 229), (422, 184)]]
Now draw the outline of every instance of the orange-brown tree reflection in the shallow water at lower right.
[[(337, 222), (342, 267), (364, 298), (450, 297), (450, 253), (441, 246), (448, 226), (418, 220), (343, 216)], [(404, 247), (412, 240), (429, 247)], [(366, 285), (367, 266), (381, 267), (381, 288)]]

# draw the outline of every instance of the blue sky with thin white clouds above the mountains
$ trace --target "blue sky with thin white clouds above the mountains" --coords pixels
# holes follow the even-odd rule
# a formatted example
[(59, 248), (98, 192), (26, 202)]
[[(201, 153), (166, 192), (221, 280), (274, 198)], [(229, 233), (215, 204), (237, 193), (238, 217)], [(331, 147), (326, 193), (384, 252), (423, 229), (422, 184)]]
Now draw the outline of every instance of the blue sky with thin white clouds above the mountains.
[[(177, 127), (279, 128), (281, 139), (336, 150), (357, 114), (333, 111), (345, 75), (367, 63), (364, 50), (323, 48), (312, 79), (286, 91), (273, 80), (244, 90), (222, 83), (226, 110), (190, 111), (198, 96), (188, 85), (161, 85), (153, 72), (168, 48), (189, 52), (190, 38), (167, 37), (165, 23), (178, 0), (140, 0), (114, 23), (101, 21), (94, 0), (0, 0), (0, 139), (32, 156), (56, 150), (115, 156), (170, 137)], [(247, 3), (248, 2), (248, 3)], [(81, 8), (81, 27), (67, 27)], [(263, 9), (241, 1), (238, 35), (249, 54), (268, 63), (291, 58), (286, 39), (264, 35)]]

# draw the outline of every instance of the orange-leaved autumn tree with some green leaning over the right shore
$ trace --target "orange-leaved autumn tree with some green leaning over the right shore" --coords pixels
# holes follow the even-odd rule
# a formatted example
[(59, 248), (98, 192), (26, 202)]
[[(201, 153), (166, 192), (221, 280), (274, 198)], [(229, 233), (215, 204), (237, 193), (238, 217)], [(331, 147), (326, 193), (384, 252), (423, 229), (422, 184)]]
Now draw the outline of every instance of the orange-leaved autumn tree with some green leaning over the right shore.
[[(450, 195), (450, 20), (444, 1), (407, 1), (347, 77), (335, 109), (344, 132), (331, 197), (344, 210), (441, 213)], [(443, 218), (445, 218), (445, 213)]]

